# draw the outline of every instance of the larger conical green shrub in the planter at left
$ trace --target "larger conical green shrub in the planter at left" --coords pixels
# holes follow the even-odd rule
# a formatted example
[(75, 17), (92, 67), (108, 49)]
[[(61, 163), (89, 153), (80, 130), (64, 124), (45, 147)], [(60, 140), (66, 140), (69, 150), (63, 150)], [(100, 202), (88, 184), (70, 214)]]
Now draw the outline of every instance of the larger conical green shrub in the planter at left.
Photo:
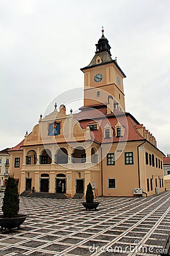
[(2, 205), (3, 217), (12, 218), (19, 212), (19, 193), (14, 177), (9, 176), (3, 197)]

